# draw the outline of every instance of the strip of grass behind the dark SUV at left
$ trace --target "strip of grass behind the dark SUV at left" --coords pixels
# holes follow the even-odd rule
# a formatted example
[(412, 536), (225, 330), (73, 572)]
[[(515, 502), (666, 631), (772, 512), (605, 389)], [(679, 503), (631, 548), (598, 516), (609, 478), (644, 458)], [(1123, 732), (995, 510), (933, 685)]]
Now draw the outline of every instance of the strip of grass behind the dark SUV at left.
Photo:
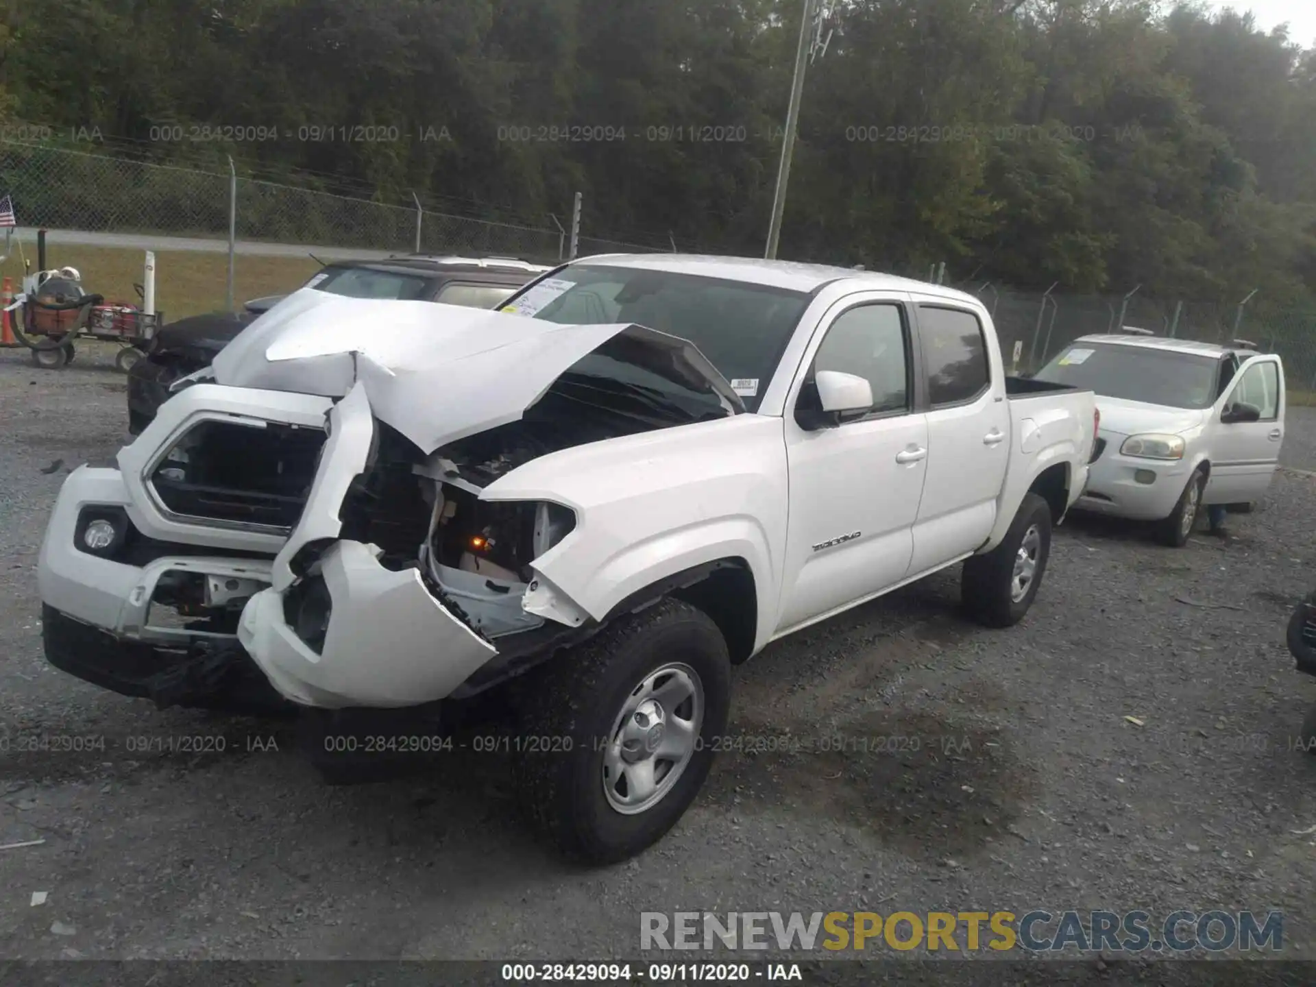
[[(32, 268), (37, 268), (37, 251), (25, 246)], [(97, 246), (50, 246), (46, 251), (50, 267), (76, 267), (83, 288), (88, 293), (104, 295), (107, 301), (138, 304), (133, 284), (141, 284), (146, 254), (142, 250)], [(201, 312), (224, 308), (229, 258), (193, 250), (155, 251), (155, 309), (166, 322)], [(253, 257), (238, 254), (233, 258), (233, 301), (241, 307), (246, 299), (262, 295), (282, 295), (299, 288), (307, 278), (320, 270), (309, 257)], [(22, 282), (22, 259), (17, 245), (13, 254), (0, 265), (0, 276), (13, 279), (13, 290)]]

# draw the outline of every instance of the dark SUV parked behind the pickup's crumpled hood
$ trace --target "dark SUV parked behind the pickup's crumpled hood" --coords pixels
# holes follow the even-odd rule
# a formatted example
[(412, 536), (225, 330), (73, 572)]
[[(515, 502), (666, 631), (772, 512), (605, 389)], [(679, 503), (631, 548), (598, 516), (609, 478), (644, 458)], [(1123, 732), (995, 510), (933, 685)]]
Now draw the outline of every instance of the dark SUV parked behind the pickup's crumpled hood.
[[(303, 287), (357, 299), (441, 301), (496, 308), (513, 291), (549, 268), (526, 261), (488, 257), (408, 254), (383, 261), (336, 261)], [(233, 338), (283, 296), (254, 299), (242, 312), (190, 316), (163, 326), (128, 371), (128, 430), (138, 434), (180, 376), (207, 367)]]

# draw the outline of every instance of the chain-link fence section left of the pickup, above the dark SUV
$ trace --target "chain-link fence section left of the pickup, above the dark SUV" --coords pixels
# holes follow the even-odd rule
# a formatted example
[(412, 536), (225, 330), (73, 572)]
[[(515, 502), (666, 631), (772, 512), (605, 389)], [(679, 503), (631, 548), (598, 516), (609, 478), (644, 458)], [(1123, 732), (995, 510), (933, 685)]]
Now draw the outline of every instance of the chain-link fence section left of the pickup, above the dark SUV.
[[(88, 233), (226, 240), (229, 209), (243, 242), (363, 250), (566, 259), (557, 226), (455, 216), (217, 171), (158, 164), (67, 147), (0, 141), (0, 187), (22, 226)], [(230, 203), (232, 200), (232, 203)], [(667, 247), (579, 237), (578, 253)]]

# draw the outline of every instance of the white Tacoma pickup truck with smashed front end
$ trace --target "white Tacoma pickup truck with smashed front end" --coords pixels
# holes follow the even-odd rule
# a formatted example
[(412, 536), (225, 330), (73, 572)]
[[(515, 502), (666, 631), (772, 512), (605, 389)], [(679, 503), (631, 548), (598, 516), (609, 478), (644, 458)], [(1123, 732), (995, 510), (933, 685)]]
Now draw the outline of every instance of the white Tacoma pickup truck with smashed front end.
[(497, 695), (532, 819), (622, 859), (771, 641), (959, 562), (967, 611), (1017, 622), (1098, 417), (1007, 380), (974, 297), (845, 268), (594, 257), (497, 312), (301, 291), (67, 478), (46, 654), (397, 750)]

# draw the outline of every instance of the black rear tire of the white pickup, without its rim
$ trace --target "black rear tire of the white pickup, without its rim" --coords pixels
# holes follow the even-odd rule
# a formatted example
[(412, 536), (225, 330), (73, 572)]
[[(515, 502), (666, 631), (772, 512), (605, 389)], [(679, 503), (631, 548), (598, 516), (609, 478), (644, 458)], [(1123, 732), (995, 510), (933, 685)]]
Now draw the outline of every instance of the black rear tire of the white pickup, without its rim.
[[(1036, 529), (1032, 578), (1020, 588), (1016, 599), (1015, 562), (1025, 537)], [(1029, 538), (1033, 545), (1033, 540)], [(965, 559), (959, 578), (959, 595), (969, 616), (988, 628), (1009, 628), (1024, 619), (1033, 605), (1037, 588), (1046, 574), (1046, 561), (1051, 554), (1051, 508), (1037, 494), (1025, 494), (1024, 503), (1005, 532), (1000, 545), (986, 555)]]

